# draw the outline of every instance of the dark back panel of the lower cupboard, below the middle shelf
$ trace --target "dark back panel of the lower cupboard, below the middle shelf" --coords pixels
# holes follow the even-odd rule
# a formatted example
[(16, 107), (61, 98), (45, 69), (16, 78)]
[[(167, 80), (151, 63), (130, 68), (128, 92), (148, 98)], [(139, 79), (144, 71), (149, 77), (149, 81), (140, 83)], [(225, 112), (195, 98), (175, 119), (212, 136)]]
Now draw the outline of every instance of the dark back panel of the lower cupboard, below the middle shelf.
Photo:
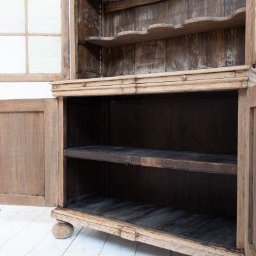
[(236, 218), (237, 177), (111, 163), (104, 195)]

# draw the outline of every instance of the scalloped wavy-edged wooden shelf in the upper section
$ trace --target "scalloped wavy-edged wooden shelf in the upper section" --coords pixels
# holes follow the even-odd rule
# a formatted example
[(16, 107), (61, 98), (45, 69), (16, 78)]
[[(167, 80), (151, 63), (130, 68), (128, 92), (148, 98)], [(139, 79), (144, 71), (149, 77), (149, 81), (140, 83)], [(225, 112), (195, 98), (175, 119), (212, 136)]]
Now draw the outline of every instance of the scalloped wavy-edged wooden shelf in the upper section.
[(245, 24), (245, 7), (226, 17), (199, 17), (185, 20), (182, 24), (154, 24), (148, 26), (145, 31), (123, 31), (115, 36), (100, 37), (89, 36), (86, 42), (104, 47), (116, 45), (134, 44), (138, 42), (157, 40), (173, 36), (189, 35), (204, 31), (233, 28)]

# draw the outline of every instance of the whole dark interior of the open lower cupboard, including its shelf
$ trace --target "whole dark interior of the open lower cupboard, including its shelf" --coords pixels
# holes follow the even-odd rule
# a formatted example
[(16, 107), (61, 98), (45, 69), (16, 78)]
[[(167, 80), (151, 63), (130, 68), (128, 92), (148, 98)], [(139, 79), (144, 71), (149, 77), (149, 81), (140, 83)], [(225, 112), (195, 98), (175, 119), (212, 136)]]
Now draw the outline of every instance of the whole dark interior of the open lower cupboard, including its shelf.
[(65, 156), (68, 208), (236, 248), (237, 91), (67, 98)]

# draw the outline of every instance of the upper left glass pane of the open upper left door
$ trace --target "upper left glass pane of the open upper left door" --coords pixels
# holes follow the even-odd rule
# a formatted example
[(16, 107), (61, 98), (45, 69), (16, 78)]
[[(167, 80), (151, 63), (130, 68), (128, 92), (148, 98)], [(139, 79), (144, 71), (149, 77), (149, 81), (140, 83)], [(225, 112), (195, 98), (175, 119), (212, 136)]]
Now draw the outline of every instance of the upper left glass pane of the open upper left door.
[(0, 0), (0, 6), (0, 33), (24, 33), (24, 0)]

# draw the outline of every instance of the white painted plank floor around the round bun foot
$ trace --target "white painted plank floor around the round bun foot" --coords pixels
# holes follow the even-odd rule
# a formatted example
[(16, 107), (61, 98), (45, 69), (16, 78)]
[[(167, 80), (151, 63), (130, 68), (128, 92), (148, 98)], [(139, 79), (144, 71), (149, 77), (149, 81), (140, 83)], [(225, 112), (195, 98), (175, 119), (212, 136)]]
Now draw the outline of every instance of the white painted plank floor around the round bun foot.
[(182, 256), (75, 225), (68, 239), (56, 239), (49, 207), (0, 205), (1, 256)]

